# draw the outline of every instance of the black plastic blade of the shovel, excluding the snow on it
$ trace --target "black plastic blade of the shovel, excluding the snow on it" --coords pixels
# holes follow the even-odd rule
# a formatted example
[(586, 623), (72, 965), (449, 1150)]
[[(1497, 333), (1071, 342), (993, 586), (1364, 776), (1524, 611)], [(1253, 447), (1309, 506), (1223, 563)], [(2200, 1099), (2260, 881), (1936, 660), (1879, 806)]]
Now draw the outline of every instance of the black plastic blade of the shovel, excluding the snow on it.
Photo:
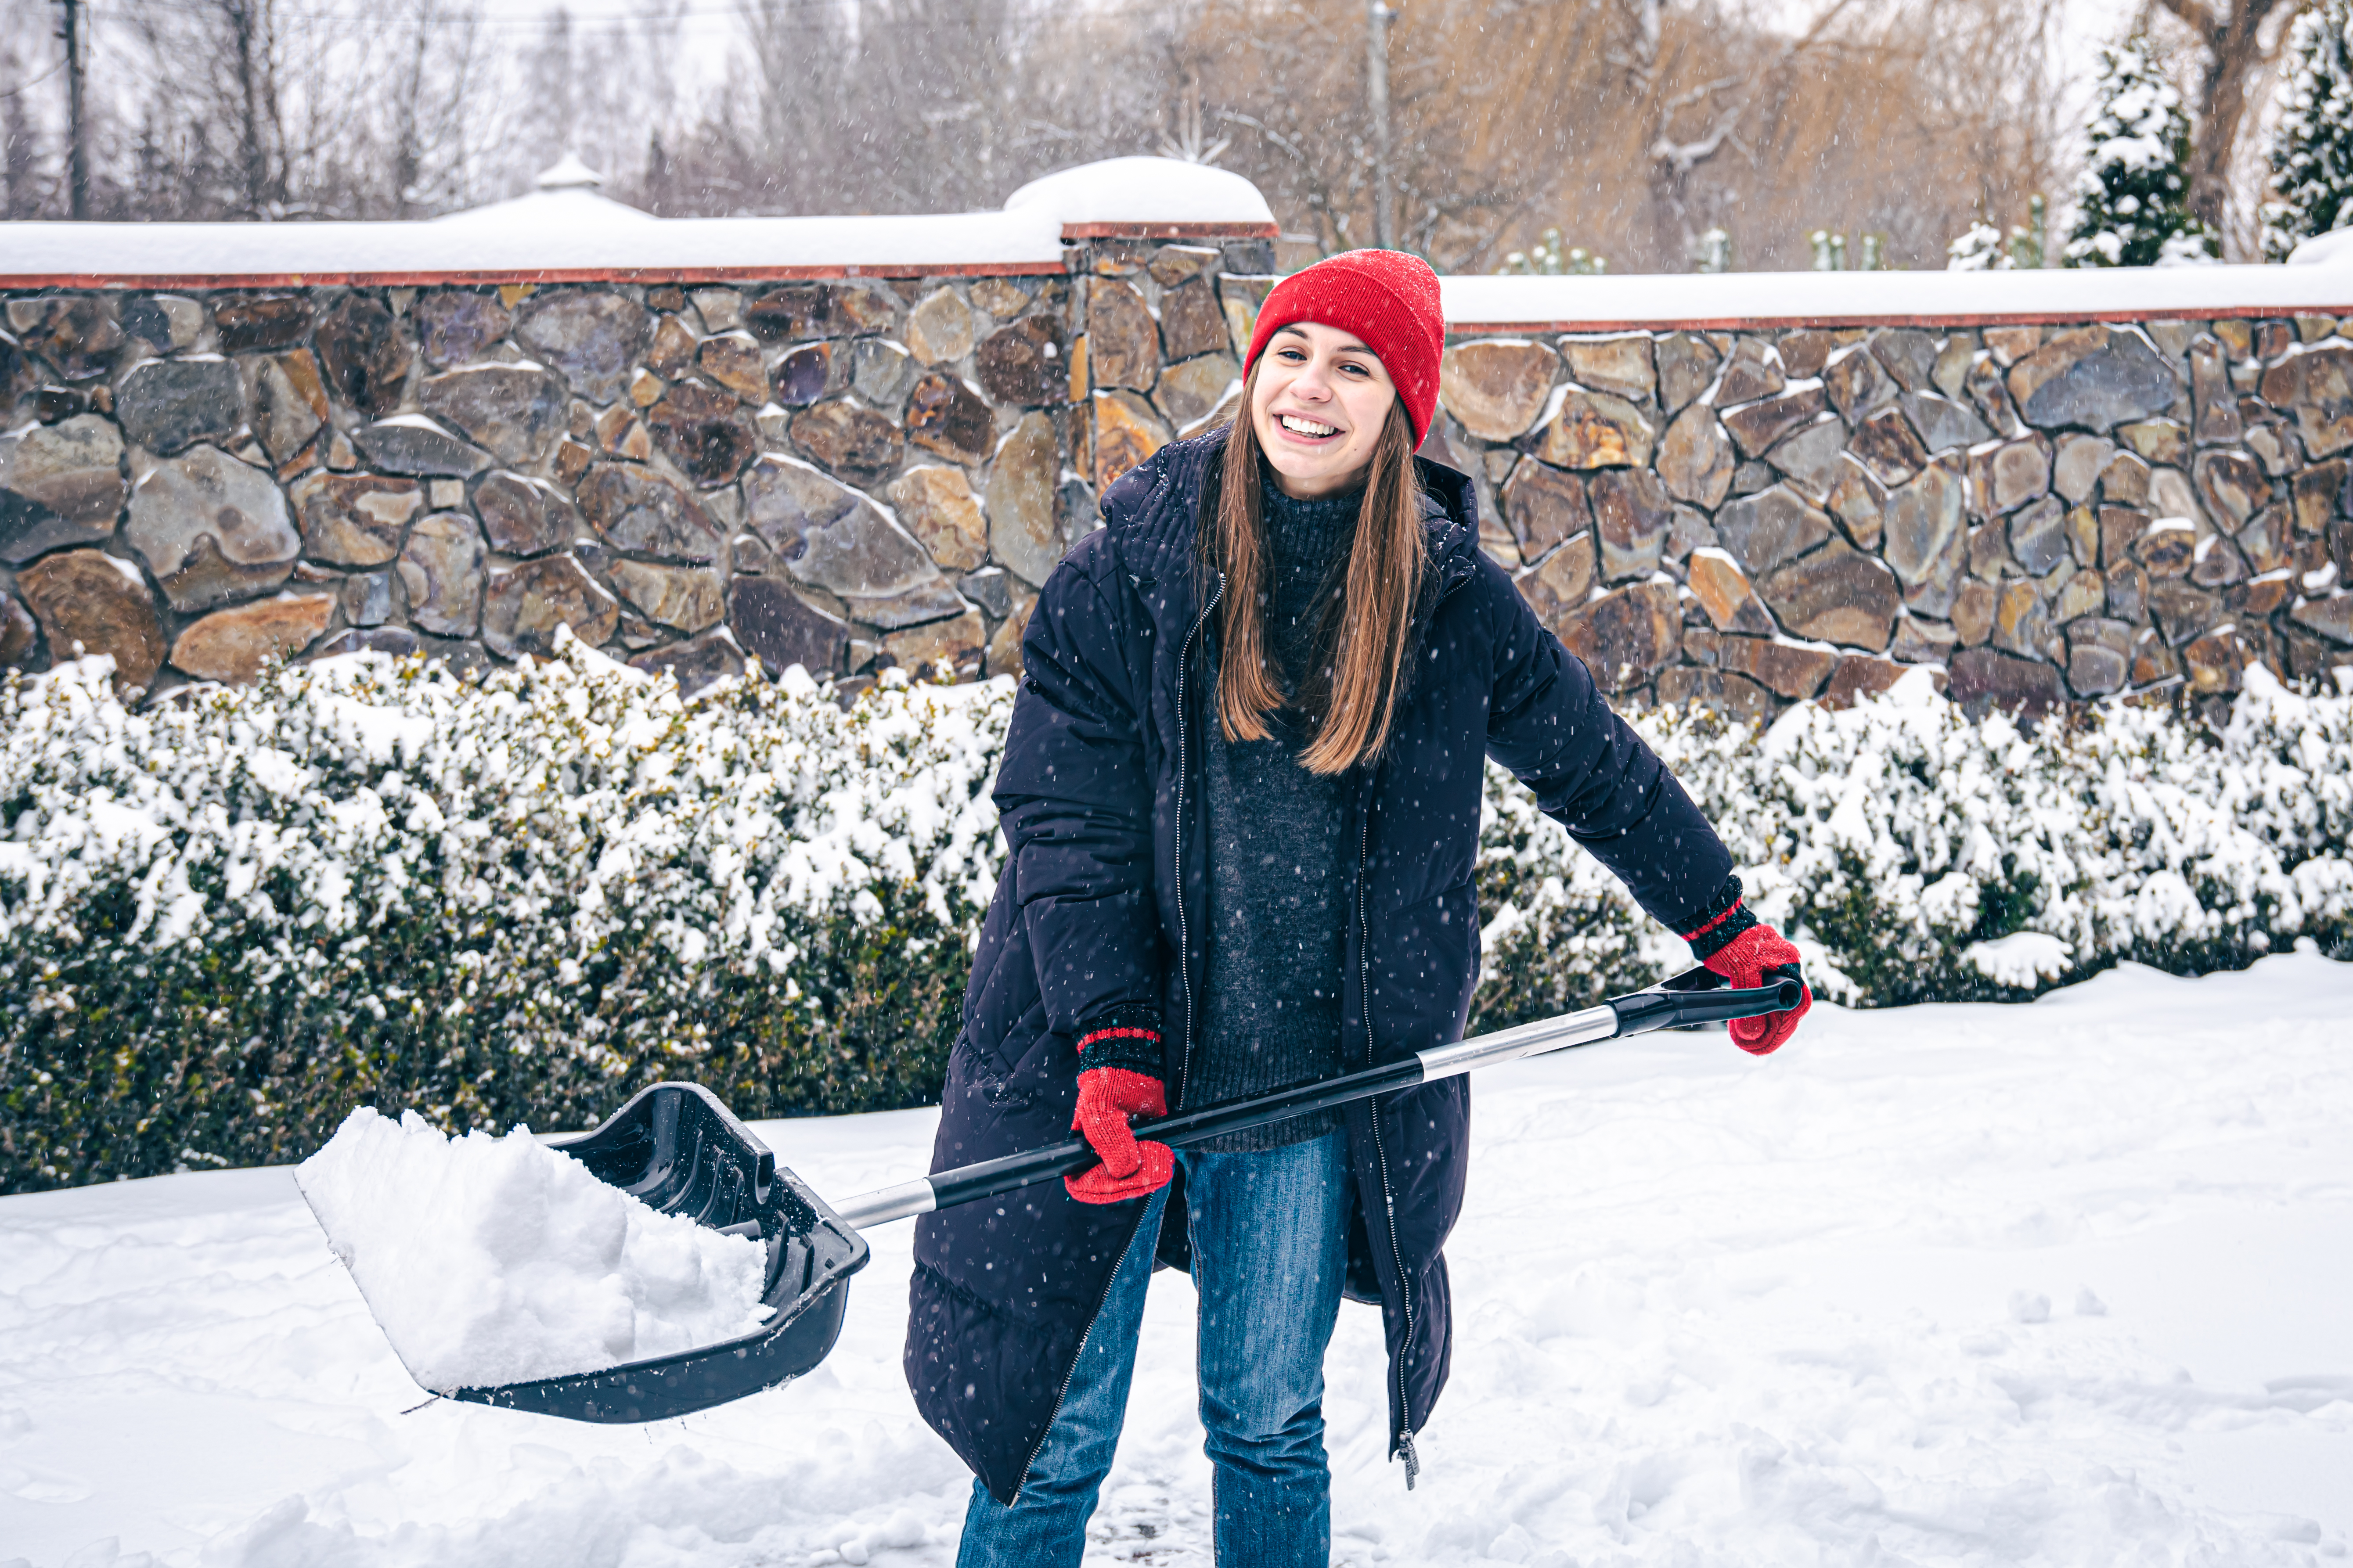
[(866, 1239), (701, 1084), (654, 1084), (605, 1126), (548, 1145), (664, 1213), (767, 1246), (774, 1312), (765, 1328), (600, 1373), (456, 1389), (449, 1399), (567, 1420), (647, 1422), (689, 1415), (800, 1378), (826, 1359), (849, 1309)]

